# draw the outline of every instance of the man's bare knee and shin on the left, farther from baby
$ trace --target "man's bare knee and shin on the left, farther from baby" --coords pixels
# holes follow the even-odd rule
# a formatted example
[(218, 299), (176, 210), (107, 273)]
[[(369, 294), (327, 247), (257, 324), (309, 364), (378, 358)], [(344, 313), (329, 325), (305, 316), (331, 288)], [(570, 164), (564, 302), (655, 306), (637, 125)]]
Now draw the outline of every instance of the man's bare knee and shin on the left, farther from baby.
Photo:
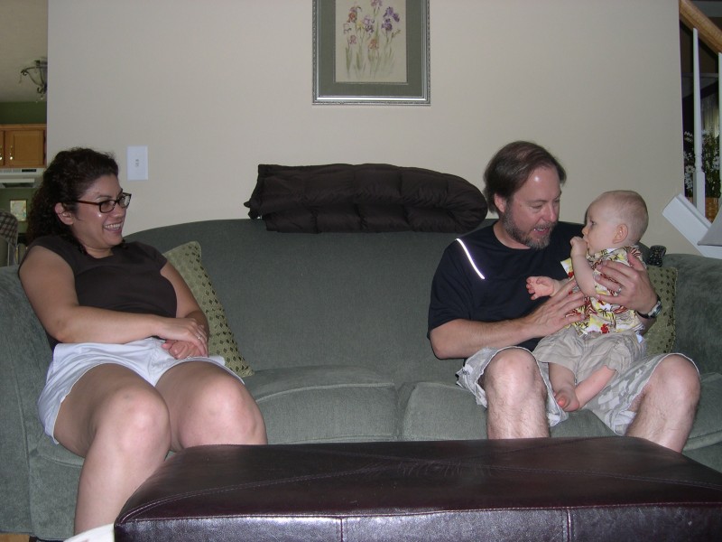
[(490, 439), (549, 436), (546, 386), (527, 350), (498, 352), (479, 384), (486, 391), (486, 434)]

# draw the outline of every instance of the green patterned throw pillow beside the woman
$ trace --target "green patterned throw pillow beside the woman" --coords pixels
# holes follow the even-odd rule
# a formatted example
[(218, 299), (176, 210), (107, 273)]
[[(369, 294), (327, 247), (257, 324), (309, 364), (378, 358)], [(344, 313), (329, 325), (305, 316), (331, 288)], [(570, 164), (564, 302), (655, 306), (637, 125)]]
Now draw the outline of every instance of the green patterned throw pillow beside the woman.
[(213, 289), (210, 277), (200, 259), (199, 243), (190, 241), (180, 247), (171, 248), (164, 252), (163, 256), (168, 258), (171, 266), (178, 270), (180, 276), (189, 285), (201, 310), (206, 314), (210, 327), (208, 352), (211, 355), (223, 356), (226, 360), (226, 367), (240, 377), (249, 377), (254, 374), (253, 369), (248, 366), (238, 351), (238, 343), (228, 326), (226, 312), (218, 301), (216, 290)]

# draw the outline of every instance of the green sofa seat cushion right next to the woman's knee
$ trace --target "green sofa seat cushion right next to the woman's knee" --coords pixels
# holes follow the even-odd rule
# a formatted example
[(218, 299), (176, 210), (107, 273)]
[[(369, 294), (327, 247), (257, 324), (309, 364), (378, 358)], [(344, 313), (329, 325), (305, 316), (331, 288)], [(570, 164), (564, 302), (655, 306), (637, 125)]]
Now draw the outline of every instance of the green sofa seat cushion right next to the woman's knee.
[(388, 441), (396, 437), (396, 388), (354, 366), (256, 370), (245, 384), (270, 444)]

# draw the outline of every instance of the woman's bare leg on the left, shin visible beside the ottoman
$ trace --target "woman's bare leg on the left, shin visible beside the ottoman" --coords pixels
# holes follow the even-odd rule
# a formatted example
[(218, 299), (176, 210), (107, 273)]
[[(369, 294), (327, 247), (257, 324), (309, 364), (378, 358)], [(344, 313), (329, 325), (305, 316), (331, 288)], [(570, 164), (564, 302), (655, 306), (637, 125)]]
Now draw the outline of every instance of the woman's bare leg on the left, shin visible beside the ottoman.
[(171, 444), (162, 397), (130, 369), (90, 369), (62, 402), (55, 438), (85, 457), (76, 533), (112, 523), (125, 500), (163, 462)]

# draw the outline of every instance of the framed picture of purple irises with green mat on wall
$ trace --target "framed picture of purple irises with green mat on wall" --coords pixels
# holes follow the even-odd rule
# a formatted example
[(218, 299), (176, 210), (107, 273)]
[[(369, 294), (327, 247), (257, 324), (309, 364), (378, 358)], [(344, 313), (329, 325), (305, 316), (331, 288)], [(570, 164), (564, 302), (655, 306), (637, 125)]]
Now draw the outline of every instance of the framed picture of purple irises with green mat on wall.
[(313, 103), (430, 105), (429, 0), (313, 0)]

